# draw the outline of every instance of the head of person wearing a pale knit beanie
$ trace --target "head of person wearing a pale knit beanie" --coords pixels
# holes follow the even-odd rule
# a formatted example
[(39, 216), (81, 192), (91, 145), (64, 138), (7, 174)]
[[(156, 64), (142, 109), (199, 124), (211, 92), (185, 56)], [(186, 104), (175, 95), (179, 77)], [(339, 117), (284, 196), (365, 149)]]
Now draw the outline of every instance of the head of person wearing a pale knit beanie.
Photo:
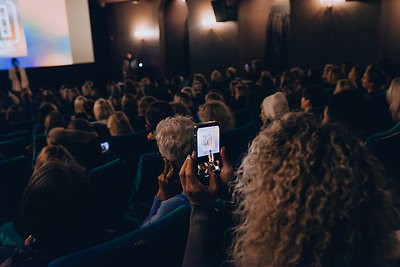
[(261, 104), (262, 127), (268, 127), (274, 120), (280, 119), (287, 112), (289, 112), (289, 104), (282, 92), (267, 96)]

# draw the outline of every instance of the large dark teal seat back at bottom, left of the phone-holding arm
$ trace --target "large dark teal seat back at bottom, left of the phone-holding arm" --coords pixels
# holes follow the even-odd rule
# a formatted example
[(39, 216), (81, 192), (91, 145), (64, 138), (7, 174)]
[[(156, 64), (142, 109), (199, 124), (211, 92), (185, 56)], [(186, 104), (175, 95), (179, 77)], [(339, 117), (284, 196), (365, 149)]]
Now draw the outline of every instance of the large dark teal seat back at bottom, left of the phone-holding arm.
[(48, 266), (180, 266), (189, 217), (190, 208), (181, 206), (132, 233), (58, 258)]

